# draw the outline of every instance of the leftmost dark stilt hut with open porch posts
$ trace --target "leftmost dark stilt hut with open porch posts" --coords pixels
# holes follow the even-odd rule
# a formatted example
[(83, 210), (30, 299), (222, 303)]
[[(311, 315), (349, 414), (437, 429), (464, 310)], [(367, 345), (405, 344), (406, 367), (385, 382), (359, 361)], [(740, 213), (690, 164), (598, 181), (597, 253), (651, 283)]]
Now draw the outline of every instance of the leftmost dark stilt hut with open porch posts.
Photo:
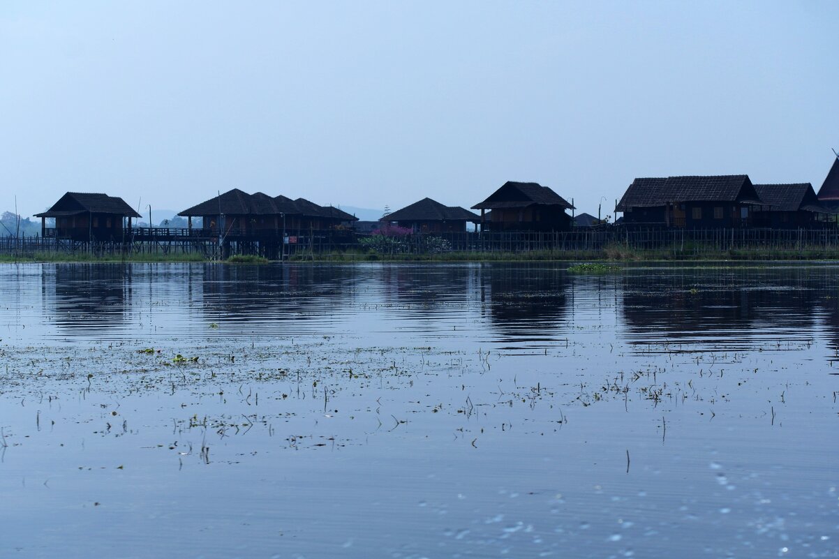
[[(41, 218), (43, 237), (122, 242), (130, 234), (131, 220), (141, 216), (117, 196), (67, 192), (49, 210), (35, 217)], [(55, 227), (46, 227), (47, 217), (55, 218)]]

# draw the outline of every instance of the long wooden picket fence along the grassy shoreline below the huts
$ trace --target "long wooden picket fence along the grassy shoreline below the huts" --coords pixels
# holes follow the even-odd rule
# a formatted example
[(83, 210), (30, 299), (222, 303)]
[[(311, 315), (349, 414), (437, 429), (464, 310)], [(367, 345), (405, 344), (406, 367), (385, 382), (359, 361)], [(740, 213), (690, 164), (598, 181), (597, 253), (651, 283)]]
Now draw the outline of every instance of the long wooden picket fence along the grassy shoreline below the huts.
[(820, 229), (627, 229), (570, 232), (461, 232), (411, 234), (401, 237), (317, 233), (289, 238), (198, 237), (194, 232), (160, 228), (144, 231), (142, 237), (126, 242), (72, 241), (61, 238), (0, 238), (0, 253), (31, 256), (35, 253), (72, 253), (91, 256), (131, 254), (199, 254), (206, 259), (232, 254), (258, 254), (269, 259), (314, 258), (316, 254), (354, 251), (357, 253), (528, 253), (550, 251), (586, 254), (606, 251), (672, 253), (688, 258), (710, 253), (751, 250), (757, 253), (839, 251), (839, 230)]

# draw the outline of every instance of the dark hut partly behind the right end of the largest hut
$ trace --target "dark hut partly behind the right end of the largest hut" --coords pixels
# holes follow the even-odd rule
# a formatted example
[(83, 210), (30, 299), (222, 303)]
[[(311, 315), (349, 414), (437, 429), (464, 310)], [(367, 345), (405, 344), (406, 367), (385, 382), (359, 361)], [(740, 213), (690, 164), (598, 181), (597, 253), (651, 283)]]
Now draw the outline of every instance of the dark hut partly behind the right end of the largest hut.
[(819, 227), (826, 224), (827, 215), (833, 213), (819, 203), (816, 191), (809, 182), (791, 185), (754, 185), (761, 206), (753, 212), (755, 227), (792, 229)]

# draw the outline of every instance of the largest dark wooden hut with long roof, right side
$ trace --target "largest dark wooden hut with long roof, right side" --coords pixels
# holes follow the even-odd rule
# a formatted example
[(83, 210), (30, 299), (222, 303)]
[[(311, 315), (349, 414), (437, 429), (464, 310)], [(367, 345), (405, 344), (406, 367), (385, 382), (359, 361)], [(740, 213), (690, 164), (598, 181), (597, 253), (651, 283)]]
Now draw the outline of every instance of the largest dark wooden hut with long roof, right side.
[(748, 175), (633, 180), (615, 208), (627, 227), (747, 227), (762, 201)]

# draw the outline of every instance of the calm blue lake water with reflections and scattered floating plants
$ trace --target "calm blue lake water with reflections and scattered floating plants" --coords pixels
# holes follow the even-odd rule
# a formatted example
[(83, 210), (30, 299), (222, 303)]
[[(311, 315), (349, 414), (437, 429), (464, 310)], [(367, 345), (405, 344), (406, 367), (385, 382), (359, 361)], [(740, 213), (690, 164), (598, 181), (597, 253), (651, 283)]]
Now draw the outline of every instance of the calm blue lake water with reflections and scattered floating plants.
[(0, 266), (0, 556), (839, 555), (839, 267)]

